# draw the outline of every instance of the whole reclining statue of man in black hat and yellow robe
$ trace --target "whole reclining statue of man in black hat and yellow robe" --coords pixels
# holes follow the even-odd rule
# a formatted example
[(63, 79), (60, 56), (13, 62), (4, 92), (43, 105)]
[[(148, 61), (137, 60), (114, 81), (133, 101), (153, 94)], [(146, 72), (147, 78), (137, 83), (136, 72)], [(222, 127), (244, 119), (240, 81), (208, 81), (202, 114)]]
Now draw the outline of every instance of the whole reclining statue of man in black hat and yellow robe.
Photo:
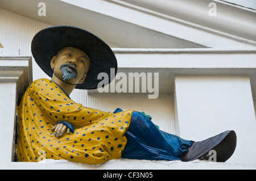
[(38, 162), (39, 153), (89, 165), (119, 158), (187, 162), (208, 159), (210, 150), (216, 151), (217, 162), (225, 162), (236, 148), (234, 131), (199, 142), (184, 140), (160, 131), (141, 112), (105, 112), (71, 100), (75, 88), (97, 89), (99, 73), (110, 74), (113, 68), (117, 73), (112, 49), (88, 31), (46, 28), (34, 36), (31, 51), (52, 79), (32, 82), (17, 108), (19, 162)]

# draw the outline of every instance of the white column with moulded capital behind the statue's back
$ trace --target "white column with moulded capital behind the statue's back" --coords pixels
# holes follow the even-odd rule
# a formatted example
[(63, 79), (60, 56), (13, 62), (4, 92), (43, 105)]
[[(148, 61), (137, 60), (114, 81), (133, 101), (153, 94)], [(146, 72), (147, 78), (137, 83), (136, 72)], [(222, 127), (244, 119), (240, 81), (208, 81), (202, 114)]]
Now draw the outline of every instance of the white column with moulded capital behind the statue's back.
[(18, 52), (2, 48), (0, 54), (0, 169), (14, 161), (16, 106), (32, 81), (31, 57)]

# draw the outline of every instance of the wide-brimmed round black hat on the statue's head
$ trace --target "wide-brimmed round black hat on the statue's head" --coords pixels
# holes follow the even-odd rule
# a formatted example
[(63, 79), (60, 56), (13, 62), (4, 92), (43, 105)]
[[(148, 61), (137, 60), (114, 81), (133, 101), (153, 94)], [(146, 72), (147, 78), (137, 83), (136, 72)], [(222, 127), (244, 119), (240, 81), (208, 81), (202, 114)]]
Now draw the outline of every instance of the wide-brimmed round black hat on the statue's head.
[(54, 26), (36, 33), (31, 43), (31, 51), (36, 63), (49, 77), (53, 74), (50, 65), (52, 57), (64, 47), (80, 49), (90, 58), (91, 68), (84, 83), (78, 84), (76, 89), (97, 89), (98, 83), (102, 81), (97, 79), (99, 73), (107, 73), (110, 83), (114, 78), (113, 75), (110, 76), (111, 68), (114, 68), (115, 75), (117, 74), (117, 59), (103, 40), (81, 28)]

